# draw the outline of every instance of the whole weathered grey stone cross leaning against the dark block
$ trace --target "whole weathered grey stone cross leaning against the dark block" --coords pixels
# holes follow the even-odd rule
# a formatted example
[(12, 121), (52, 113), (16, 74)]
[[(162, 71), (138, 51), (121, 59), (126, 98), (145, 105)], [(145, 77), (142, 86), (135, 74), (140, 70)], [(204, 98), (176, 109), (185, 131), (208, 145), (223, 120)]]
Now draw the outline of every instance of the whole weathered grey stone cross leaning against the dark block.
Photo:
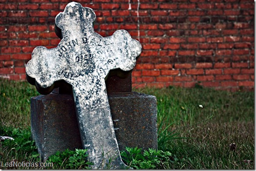
[(26, 66), (29, 82), (36, 87), (71, 84), (83, 147), (88, 149), (93, 169), (121, 169), (105, 78), (110, 70), (132, 70), (141, 53), (140, 43), (125, 30), (103, 38), (93, 28), (96, 15), (91, 8), (71, 2), (56, 16), (62, 39), (56, 48), (36, 47)]

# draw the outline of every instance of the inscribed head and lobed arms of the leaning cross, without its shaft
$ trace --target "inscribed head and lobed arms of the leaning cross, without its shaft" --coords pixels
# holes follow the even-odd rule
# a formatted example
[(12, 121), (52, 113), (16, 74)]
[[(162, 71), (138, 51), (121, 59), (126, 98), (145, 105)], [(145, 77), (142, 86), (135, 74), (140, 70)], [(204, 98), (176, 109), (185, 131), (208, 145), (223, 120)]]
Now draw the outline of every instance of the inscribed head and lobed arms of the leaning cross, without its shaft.
[(53, 49), (39, 46), (33, 50), (32, 60), (26, 66), (28, 77), (46, 88), (57, 80), (72, 85), (74, 80), (81, 80), (88, 74), (100, 72), (105, 78), (110, 70), (132, 70), (141, 53), (140, 43), (125, 30), (103, 38), (94, 31), (95, 18), (91, 8), (68, 3), (55, 21), (57, 28), (61, 29), (59, 45)]

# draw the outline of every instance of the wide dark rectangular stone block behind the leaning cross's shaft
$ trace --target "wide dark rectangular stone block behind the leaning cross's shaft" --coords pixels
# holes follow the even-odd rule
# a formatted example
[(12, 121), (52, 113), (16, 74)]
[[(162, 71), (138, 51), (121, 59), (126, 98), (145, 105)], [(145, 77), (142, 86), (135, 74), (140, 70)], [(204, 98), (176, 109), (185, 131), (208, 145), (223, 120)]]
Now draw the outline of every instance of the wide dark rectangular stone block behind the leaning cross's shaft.
[[(157, 149), (156, 97), (137, 92), (108, 93), (119, 150)], [(31, 98), (31, 132), (43, 160), (58, 150), (82, 149), (71, 94)]]

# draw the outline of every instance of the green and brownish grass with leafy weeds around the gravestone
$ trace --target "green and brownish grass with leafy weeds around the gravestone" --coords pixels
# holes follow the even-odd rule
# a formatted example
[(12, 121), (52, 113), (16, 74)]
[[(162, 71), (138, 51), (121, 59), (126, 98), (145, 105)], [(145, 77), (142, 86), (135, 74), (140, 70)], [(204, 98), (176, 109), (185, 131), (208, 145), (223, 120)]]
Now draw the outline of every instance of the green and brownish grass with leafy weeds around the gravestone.
[[(128, 165), (142, 169), (255, 168), (254, 92), (216, 91), (199, 85), (134, 91), (157, 98), (159, 152), (149, 150), (136, 156), (138, 149), (128, 149), (133, 156), (122, 154), (132, 160)], [(0, 136), (14, 138), (0, 141), (0, 168), (15, 161), (39, 162), (30, 138), (30, 98), (36, 95), (36, 88), (27, 82), (0, 80)], [(51, 161), (53, 168), (86, 168), (84, 159), (84, 151), (66, 150)]]

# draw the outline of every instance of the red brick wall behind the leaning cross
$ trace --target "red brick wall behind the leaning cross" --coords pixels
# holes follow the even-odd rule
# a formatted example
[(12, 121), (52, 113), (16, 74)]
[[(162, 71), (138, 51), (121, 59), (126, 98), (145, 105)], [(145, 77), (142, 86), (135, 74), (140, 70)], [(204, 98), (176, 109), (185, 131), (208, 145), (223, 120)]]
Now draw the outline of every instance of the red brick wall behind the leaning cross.
[[(25, 79), (39, 45), (56, 47), (54, 18), (67, 0), (0, 0), (0, 77)], [(200, 84), (254, 88), (252, 0), (79, 0), (103, 36), (126, 29), (142, 44), (132, 73), (138, 87)]]

